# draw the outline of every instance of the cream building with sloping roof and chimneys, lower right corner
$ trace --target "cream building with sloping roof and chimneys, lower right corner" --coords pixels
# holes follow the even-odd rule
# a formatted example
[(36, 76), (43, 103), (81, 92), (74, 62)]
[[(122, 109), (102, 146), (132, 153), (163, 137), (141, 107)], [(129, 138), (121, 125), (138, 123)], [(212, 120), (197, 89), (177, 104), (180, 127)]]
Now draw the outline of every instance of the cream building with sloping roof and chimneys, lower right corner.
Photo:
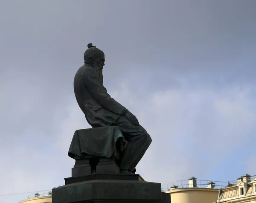
[(220, 190), (216, 203), (256, 203), (256, 178), (248, 174), (237, 178), (235, 184)]

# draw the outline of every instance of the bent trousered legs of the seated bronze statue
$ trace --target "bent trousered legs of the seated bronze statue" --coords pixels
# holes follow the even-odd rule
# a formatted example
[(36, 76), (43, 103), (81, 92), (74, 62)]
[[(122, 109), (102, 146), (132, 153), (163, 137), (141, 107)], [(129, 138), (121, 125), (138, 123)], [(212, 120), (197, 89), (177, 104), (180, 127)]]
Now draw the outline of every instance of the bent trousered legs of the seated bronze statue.
[(133, 171), (151, 144), (151, 137), (141, 125), (132, 125), (125, 116), (120, 116), (115, 125), (129, 141), (123, 153), (120, 170)]

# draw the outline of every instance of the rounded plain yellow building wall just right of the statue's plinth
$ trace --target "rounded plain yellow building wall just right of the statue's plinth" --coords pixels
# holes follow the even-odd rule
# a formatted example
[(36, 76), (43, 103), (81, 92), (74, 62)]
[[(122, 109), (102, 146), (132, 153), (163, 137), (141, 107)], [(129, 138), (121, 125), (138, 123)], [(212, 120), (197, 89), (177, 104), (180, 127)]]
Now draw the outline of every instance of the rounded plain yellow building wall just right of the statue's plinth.
[(171, 203), (213, 203), (218, 200), (218, 189), (182, 188), (166, 191)]

